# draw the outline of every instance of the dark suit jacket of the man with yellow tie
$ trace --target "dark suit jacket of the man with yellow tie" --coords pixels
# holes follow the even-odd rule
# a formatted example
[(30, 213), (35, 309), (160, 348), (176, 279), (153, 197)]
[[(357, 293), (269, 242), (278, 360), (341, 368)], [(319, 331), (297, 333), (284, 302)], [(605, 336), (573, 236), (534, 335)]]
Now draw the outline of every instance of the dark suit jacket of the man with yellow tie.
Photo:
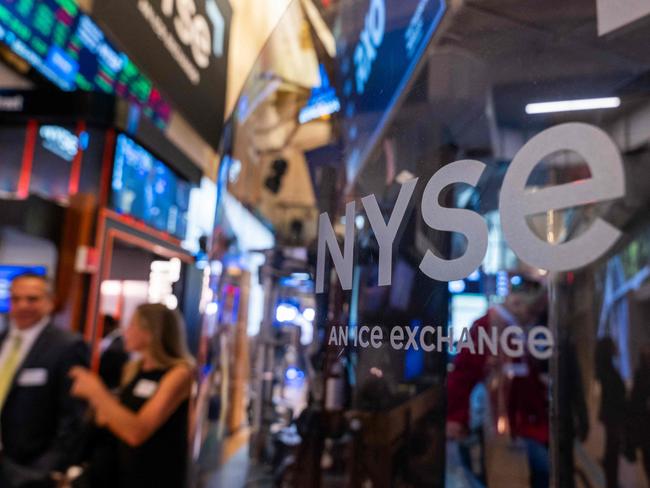
[[(6, 337), (0, 335), (0, 345)], [(0, 414), (5, 460), (44, 473), (67, 468), (86, 408), (70, 396), (68, 372), (87, 364), (88, 349), (80, 337), (54, 325), (43, 329), (16, 371)], [(27, 376), (21, 380), (26, 371), (27, 376), (32, 373), (31, 382), (24, 381)]]

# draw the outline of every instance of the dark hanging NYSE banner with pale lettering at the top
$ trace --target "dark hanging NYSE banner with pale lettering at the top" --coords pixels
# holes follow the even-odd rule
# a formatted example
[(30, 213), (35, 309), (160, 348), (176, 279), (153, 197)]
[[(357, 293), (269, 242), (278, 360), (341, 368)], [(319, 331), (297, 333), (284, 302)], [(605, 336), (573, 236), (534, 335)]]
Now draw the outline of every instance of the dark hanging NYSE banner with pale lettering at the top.
[(102, 0), (93, 14), (216, 147), (223, 125), (227, 0)]

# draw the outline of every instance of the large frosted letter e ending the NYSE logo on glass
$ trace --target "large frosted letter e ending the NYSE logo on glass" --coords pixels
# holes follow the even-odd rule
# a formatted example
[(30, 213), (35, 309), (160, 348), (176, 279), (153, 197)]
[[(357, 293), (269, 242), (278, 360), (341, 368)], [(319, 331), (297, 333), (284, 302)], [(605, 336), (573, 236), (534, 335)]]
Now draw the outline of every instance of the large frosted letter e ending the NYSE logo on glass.
[[(589, 166), (591, 178), (580, 184), (526, 190), (528, 177), (537, 164), (558, 151), (580, 154)], [(530, 230), (526, 217), (613, 200), (624, 194), (623, 161), (609, 136), (592, 125), (561, 124), (528, 141), (508, 168), (499, 198), (503, 234), (515, 254), (528, 264), (550, 271), (582, 268), (607, 252), (621, 232), (598, 218), (578, 237), (562, 244), (548, 243)]]

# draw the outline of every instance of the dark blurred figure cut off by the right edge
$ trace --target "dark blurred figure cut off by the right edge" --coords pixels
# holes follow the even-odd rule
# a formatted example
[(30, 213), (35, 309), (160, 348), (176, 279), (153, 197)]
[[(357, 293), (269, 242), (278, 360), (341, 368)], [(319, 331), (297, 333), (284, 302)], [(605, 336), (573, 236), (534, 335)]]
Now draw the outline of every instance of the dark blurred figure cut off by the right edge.
[(630, 415), (627, 436), (629, 456), (635, 460), (635, 451), (641, 450), (641, 461), (646, 479), (650, 482), (650, 344), (641, 347), (639, 365), (634, 371), (634, 383), (630, 394)]

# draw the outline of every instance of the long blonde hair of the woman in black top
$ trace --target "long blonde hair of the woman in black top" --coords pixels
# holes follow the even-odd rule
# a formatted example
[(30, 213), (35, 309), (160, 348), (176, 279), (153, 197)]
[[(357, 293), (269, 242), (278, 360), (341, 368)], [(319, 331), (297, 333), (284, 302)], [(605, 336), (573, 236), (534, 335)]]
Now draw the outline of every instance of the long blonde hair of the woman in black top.
[[(194, 359), (187, 347), (185, 321), (175, 311), (159, 303), (144, 303), (135, 310), (137, 327), (151, 333), (150, 352), (153, 359), (163, 368), (180, 364), (194, 368)], [(124, 382), (128, 382), (140, 368), (139, 361), (125, 370)]]

